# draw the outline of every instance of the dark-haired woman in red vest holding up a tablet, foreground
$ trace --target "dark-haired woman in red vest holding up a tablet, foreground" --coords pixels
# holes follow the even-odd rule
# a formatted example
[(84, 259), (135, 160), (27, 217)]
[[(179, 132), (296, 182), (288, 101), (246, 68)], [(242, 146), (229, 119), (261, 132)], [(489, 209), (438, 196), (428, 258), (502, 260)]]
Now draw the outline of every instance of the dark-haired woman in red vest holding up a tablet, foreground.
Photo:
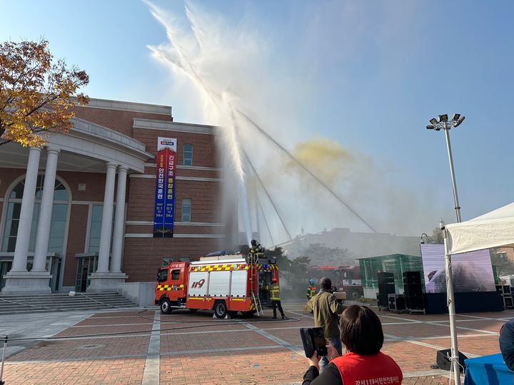
[(383, 345), (382, 324), (378, 316), (366, 306), (351, 305), (341, 314), (341, 341), (348, 351), (339, 356), (329, 344), (328, 364), (319, 374), (317, 352), (309, 359), (311, 367), (303, 376), (302, 385), (399, 385), (403, 375), (400, 366), (387, 354)]

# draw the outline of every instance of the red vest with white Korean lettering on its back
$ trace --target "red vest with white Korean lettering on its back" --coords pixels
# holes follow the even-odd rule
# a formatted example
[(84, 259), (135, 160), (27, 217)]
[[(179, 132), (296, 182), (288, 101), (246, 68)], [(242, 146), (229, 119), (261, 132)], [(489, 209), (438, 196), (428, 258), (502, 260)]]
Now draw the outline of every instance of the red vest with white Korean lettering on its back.
[(400, 385), (403, 379), (400, 366), (380, 352), (373, 356), (350, 352), (331, 363), (339, 369), (344, 385)]

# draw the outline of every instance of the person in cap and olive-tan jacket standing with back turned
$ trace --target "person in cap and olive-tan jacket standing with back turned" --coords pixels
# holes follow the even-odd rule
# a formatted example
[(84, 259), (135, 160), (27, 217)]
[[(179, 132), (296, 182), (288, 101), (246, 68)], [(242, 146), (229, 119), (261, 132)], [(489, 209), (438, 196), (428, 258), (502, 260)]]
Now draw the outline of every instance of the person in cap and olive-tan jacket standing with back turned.
[[(320, 280), (321, 290), (314, 297), (309, 299), (308, 305), (313, 309), (314, 327), (323, 327), (326, 339), (336, 349), (339, 355), (342, 354), (343, 346), (338, 327), (338, 314), (344, 310), (343, 304), (338, 301), (336, 296), (331, 292), (332, 281), (328, 277)], [(321, 371), (328, 365), (328, 359), (321, 357), (319, 367)]]

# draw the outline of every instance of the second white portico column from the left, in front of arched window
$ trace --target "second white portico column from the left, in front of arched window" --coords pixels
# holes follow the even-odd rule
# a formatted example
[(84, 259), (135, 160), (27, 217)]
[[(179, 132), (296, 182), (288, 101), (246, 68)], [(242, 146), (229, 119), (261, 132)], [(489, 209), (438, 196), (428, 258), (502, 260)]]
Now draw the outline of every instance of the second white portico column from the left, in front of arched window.
[(39, 222), (36, 233), (36, 247), (34, 248), (33, 272), (46, 272), (46, 253), (48, 252), (51, 215), (54, 207), (54, 189), (57, 172), (57, 157), (59, 148), (46, 149), (46, 168), (43, 185), (43, 196), (39, 209)]

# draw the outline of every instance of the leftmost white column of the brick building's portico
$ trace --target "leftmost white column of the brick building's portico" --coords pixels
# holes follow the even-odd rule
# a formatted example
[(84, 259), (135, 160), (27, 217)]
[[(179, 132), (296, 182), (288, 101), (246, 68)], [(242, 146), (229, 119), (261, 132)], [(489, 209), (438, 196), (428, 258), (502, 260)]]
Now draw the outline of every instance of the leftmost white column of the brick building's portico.
[(21, 200), (20, 219), (16, 234), (16, 247), (11, 272), (26, 272), (26, 257), (29, 252), (29, 240), (34, 212), (34, 197), (36, 195), (36, 182), (39, 168), (39, 155), (41, 148), (29, 149), (29, 161), (25, 175), (24, 195)]

